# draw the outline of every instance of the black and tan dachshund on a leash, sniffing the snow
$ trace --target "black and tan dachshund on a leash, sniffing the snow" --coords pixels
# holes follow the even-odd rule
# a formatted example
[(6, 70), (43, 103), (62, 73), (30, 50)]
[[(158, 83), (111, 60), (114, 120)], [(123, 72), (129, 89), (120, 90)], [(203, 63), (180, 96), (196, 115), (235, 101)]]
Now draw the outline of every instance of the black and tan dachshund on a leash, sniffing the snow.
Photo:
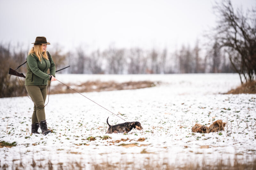
[[(108, 123), (108, 119), (107, 119)], [(140, 122), (125, 122), (117, 125), (108, 124), (109, 128), (106, 133), (128, 133), (132, 130), (132, 128), (141, 130), (143, 129)]]

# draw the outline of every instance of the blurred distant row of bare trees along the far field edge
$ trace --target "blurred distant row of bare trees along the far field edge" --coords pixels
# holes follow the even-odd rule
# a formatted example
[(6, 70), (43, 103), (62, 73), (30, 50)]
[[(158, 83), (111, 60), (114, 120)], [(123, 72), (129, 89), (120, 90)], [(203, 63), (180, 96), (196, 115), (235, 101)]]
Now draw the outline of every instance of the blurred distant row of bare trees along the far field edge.
[[(214, 47), (213, 47), (214, 48)], [(141, 48), (114, 48), (95, 50), (86, 54), (82, 48), (71, 54), (76, 74), (169, 74), (169, 73), (220, 73), (233, 72), (230, 62), (220, 49), (202, 55), (198, 43), (194, 48), (183, 45), (175, 52), (143, 50)]]

